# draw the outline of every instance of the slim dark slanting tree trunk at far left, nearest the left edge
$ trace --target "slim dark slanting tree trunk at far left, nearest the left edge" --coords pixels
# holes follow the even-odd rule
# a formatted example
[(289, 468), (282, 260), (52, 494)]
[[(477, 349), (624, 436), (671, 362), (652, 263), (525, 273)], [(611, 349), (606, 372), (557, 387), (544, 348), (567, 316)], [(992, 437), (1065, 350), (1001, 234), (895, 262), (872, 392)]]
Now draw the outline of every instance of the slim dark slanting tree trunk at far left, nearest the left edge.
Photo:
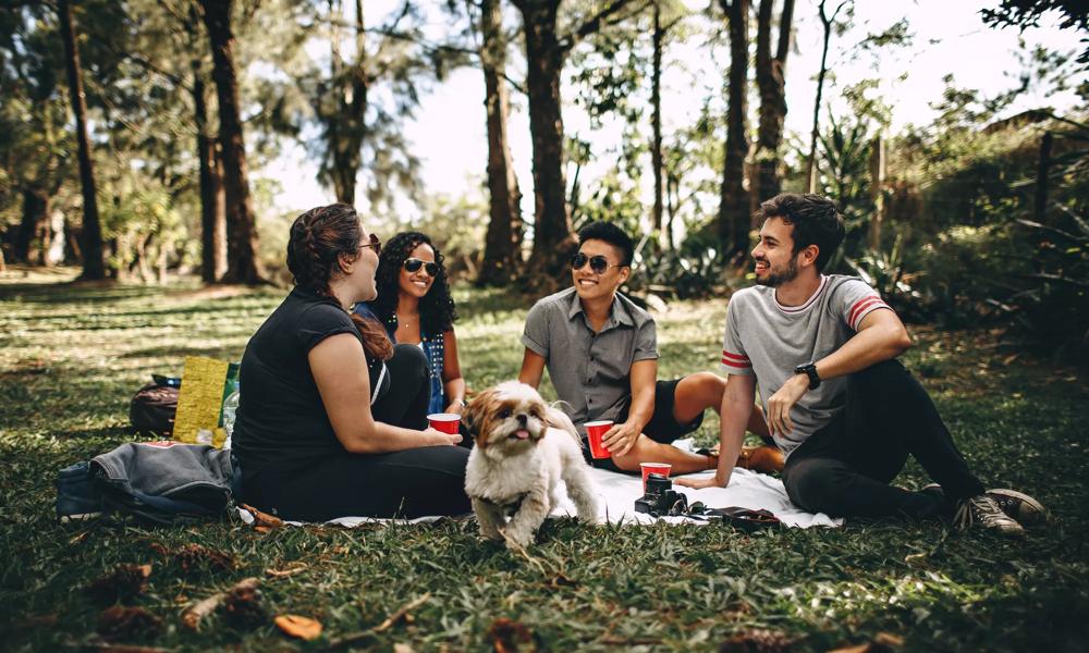
[(72, 3), (59, 0), (57, 13), (61, 21), (61, 36), (64, 39), (64, 63), (68, 67), (69, 91), (72, 111), (75, 113), (75, 138), (78, 146), (79, 184), (83, 189), (83, 273), (81, 279), (106, 279), (106, 262), (102, 257), (102, 227), (98, 220), (98, 199), (95, 196), (95, 171), (90, 161), (90, 140), (87, 136), (87, 99), (83, 93), (83, 77), (79, 71), (79, 48), (75, 41), (72, 25)]

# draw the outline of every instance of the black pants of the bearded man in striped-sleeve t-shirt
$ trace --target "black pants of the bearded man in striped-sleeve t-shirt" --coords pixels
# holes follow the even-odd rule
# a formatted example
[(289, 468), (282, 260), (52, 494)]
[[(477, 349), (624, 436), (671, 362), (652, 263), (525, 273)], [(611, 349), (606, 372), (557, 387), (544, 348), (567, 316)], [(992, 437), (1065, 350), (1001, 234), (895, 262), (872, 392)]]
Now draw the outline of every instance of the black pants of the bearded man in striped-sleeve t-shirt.
[[(886, 360), (852, 374), (844, 410), (786, 460), (796, 505), (833, 517), (933, 518), (983, 492), (930, 396), (904, 366)], [(914, 456), (945, 498), (889, 483)]]

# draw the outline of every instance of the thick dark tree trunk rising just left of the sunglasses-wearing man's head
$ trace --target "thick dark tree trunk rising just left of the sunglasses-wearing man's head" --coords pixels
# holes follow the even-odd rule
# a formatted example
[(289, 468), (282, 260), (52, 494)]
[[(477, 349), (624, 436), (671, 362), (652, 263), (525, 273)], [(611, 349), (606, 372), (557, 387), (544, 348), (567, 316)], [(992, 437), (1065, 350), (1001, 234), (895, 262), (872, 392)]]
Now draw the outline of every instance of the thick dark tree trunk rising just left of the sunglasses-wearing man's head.
[[(564, 255), (575, 246), (563, 175), (560, 72), (564, 51), (556, 36), (559, 2), (521, 0), (526, 40), (529, 133), (534, 146), (534, 249), (528, 270), (543, 283), (562, 275)], [(558, 256), (559, 255), (559, 256)]]

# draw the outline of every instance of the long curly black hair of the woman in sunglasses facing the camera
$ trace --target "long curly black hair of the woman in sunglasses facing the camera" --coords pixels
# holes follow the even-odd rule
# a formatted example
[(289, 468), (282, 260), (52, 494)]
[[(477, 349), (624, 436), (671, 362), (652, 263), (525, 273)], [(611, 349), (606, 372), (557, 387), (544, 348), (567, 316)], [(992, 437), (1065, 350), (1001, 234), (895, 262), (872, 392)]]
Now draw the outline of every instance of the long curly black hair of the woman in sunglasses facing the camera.
[(372, 304), (375, 315), (382, 323), (389, 323), (397, 310), (397, 280), (401, 267), (409, 258), (413, 249), (427, 245), (435, 251), (435, 262), (439, 264), (439, 275), (435, 278), (431, 289), (419, 300), (420, 334), (439, 334), (450, 331), (457, 319), (454, 298), (450, 296), (450, 282), (446, 279), (446, 268), (442, 264), (443, 256), (427, 234), (420, 232), (401, 232), (382, 246), (382, 255), (378, 259), (378, 271), (375, 280), (378, 285), (378, 299)]

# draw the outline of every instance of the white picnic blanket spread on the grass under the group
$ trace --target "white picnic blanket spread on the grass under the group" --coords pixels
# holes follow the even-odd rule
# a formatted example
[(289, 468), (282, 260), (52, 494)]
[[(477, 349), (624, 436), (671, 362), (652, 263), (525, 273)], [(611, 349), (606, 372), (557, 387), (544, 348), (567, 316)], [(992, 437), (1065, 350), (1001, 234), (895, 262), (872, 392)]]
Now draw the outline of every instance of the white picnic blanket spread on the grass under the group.
[[(661, 517), (654, 518), (650, 515), (635, 512), (635, 500), (643, 496), (643, 479), (637, 476), (628, 476), (605, 471), (603, 469), (591, 469), (590, 473), (598, 486), (601, 496), (602, 521), (610, 523), (653, 523), (664, 520), (670, 523), (706, 523), (687, 517)], [(688, 478), (709, 477), (713, 472), (705, 471), (698, 475), (689, 475)], [(674, 485), (674, 490), (683, 492), (688, 497), (688, 503), (699, 501), (709, 508), (726, 508), (741, 506), (744, 508), (764, 508), (779, 517), (786, 526), (795, 528), (809, 528), (811, 526), (841, 526), (843, 519), (833, 519), (823, 513), (813, 515), (796, 507), (786, 496), (783, 482), (774, 477), (757, 473), (747, 469), (735, 469), (730, 478), (729, 488), (707, 488), (703, 490), (692, 490)], [(238, 508), (242, 519), (249, 523), (253, 516)], [(575, 514), (575, 507), (566, 498), (552, 510), (552, 517), (564, 517)], [(440, 517), (418, 517), (409, 520), (412, 523), (426, 523), (435, 521)], [(340, 517), (326, 523), (354, 528), (362, 523), (388, 521), (374, 517)], [(286, 523), (301, 526), (302, 522), (289, 521)]]

